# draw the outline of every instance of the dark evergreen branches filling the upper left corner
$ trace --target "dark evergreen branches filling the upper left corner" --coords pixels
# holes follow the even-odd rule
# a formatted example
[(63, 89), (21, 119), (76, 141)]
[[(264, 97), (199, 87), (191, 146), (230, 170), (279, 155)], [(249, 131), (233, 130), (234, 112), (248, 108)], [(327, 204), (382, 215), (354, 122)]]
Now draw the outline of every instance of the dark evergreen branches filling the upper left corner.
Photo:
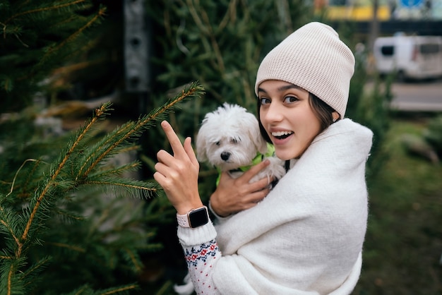
[[(91, 0), (1, 1), (0, 109), (19, 111), (37, 91), (63, 88), (56, 69), (83, 61), (100, 40), (90, 35), (106, 7)], [(76, 64), (85, 67), (92, 62)], [(97, 59), (95, 61), (97, 63)], [(65, 71), (65, 70), (64, 70)], [(68, 84), (68, 83), (66, 83)]]

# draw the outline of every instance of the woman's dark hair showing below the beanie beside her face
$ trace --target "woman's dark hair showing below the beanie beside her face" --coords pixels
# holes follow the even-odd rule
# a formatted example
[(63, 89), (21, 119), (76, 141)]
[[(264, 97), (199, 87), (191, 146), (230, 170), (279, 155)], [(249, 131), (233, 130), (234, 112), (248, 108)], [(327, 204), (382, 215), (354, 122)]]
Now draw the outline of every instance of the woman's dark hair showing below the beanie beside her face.
[[(333, 115), (332, 113), (335, 112), (335, 109), (333, 107), (330, 107), (328, 104), (323, 102), (320, 98), (318, 98), (316, 95), (313, 95), (313, 93), (309, 92), (309, 104), (311, 109), (313, 110), (313, 113), (316, 115), (316, 117), (319, 119), (319, 124), (321, 124), (321, 129), (319, 133), (324, 131), (328, 126), (333, 124)], [(261, 136), (267, 141), (268, 143), (272, 143), (272, 140), (268, 137), (267, 132), (264, 129), (263, 124), (261, 124), (261, 117), (259, 109), (261, 107), (261, 100), (256, 100), (256, 110), (257, 110), (257, 116), (258, 116), (258, 122), (259, 122), (259, 130), (261, 131)], [(339, 119), (338, 119), (339, 120)]]

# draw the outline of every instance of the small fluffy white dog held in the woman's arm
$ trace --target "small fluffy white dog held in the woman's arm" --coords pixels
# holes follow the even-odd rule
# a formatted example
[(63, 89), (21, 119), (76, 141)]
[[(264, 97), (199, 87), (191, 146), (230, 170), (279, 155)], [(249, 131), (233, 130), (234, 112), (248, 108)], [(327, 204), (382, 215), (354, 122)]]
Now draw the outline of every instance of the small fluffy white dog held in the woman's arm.
[[(258, 152), (265, 155), (267, 143), (261, 136), (258, 119), (244, 107), (225, 103), (205, 115), (196, 136), (196, 155), (199, 161), (207, 161), (237, 178), (244, 172), (230, 171), (251, 165)], [(284, 176), (284, 162), (281, 159), (265, 159), (269, 159), (270, 164), (253, 176), (250, 182), (264, 177), (270, 179), (274, 176), (275, 179), (280, 179)], [(194, 288), (190, 275), (186, 275), (183, 285), (175, 285), (174, 289), (181, 295), (192, 294)]]

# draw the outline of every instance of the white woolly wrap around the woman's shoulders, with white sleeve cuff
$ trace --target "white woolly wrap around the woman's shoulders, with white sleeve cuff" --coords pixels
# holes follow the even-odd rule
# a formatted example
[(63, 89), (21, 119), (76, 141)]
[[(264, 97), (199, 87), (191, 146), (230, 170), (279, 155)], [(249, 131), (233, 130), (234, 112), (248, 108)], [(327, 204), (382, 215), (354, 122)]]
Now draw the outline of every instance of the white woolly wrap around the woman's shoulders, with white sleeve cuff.
[(340, 120), (261, 203), (222, 219), (216, 231), (179, 228), (184, 249), (217, 235), (213, 294), (350, 294), (362, 266), (371, 139), (368, 128)]

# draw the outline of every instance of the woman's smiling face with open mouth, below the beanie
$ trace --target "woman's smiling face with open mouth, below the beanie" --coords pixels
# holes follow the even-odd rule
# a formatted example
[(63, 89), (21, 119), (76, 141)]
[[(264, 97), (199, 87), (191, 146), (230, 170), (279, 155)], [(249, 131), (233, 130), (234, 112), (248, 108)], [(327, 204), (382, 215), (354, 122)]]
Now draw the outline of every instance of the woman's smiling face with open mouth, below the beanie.
[(321, 132), (321, 122), (309, 103), (309, 92), (281, 80), (258, 87), (261, 124), (280, 159), (300, 157)]

